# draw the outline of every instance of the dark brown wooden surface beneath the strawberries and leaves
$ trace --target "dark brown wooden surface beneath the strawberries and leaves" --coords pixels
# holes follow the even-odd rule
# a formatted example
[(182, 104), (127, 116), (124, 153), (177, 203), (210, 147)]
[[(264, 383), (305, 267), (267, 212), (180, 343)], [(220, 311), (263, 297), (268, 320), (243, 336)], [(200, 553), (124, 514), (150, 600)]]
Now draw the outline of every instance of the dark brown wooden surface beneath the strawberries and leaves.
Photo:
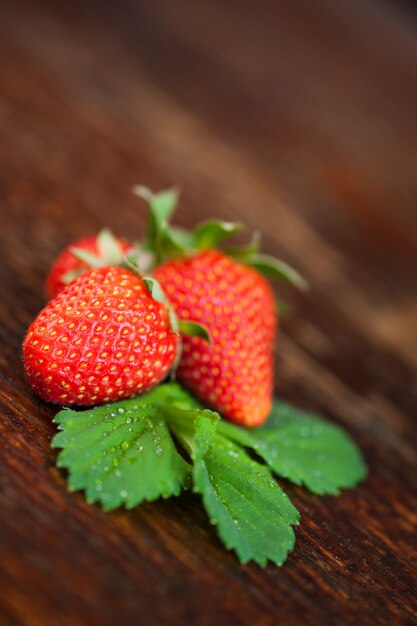
[[(0, 3), (2, 626), (416, 623), (407, 6)], [(54, 468), (54, 409), (24, 379), (22, 338), (64, 245), (103, 224), (140, 234), (138, 182), (180, 185), (186, 225), (260, 227), (312, 285), (280, 289), (294, 312), (277, 391), (342, 424), (370, 475), (339, 498), (285, 486), (302, 523), (281, 569), (240, 566), (196, 496), (104, 514)]]

